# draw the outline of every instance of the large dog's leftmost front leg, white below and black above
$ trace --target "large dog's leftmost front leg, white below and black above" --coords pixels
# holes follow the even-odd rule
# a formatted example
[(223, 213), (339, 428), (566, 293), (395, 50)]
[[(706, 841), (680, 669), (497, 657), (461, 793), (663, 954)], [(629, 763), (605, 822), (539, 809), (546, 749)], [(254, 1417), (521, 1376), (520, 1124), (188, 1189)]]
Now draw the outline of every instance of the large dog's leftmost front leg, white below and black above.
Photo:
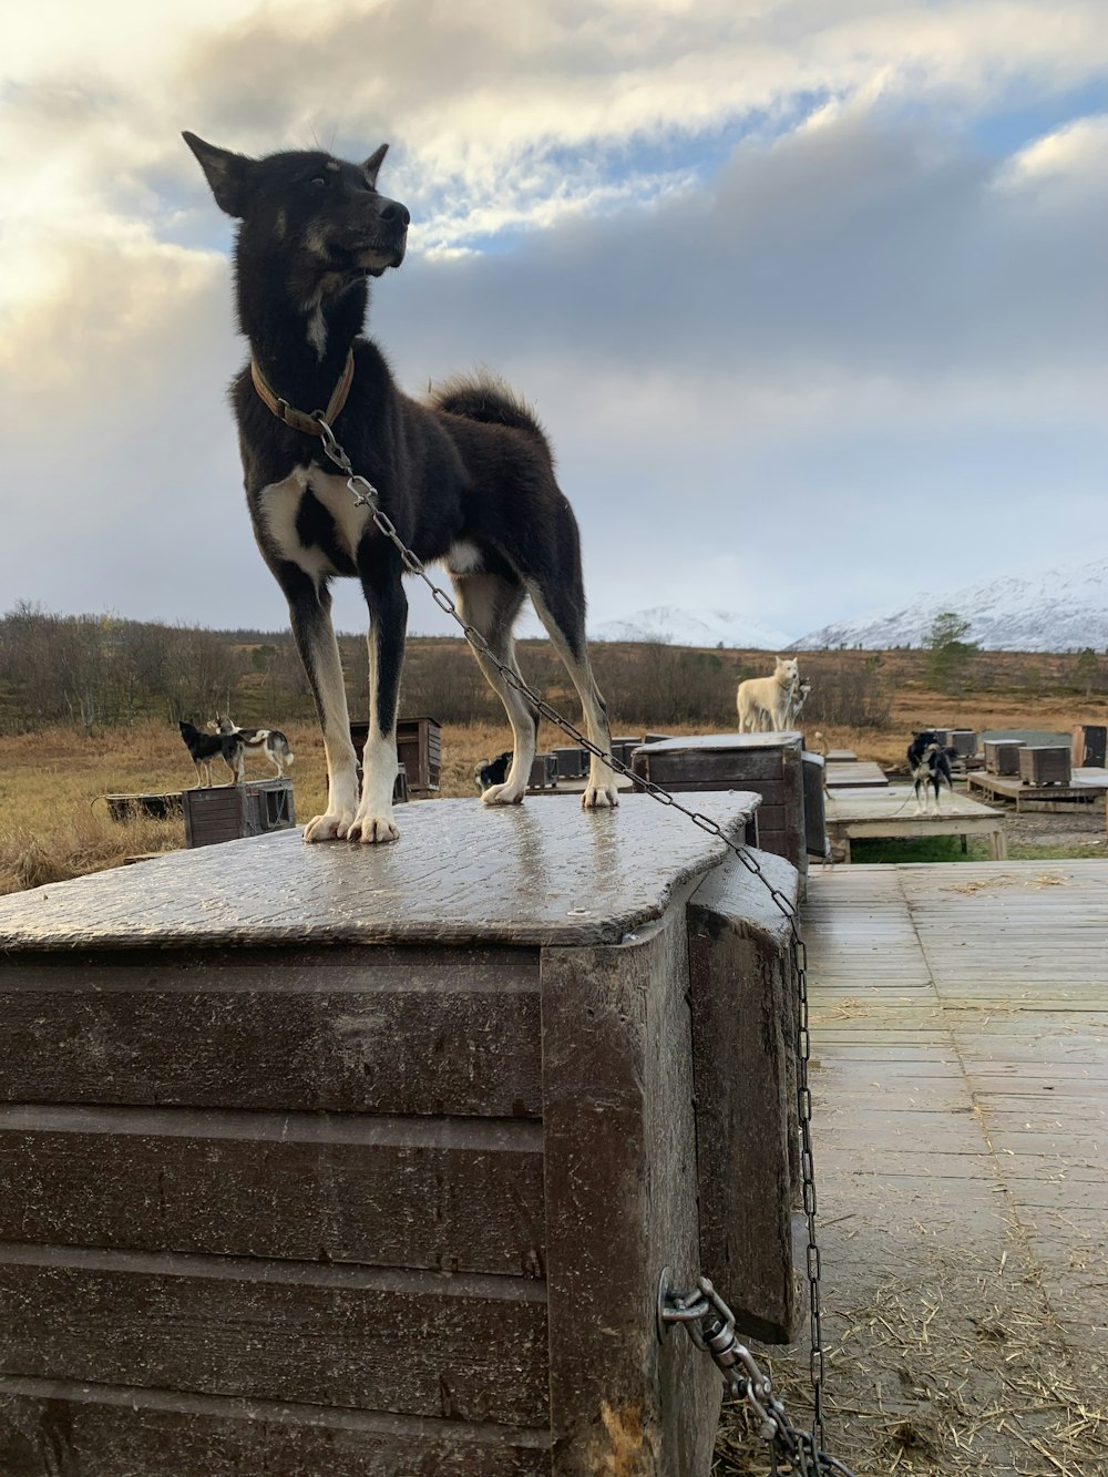
[[(298, 578), (297, 578), (298, 576)], [(346, 836), (358, 811), (358, 755), (350, 740), (343, 665), (331, 625), (331, 594), (301, 570), (282, 569), (293, 640), (304, 663), (326, 752), (326, 811), (304, 826), (304, 840)]]

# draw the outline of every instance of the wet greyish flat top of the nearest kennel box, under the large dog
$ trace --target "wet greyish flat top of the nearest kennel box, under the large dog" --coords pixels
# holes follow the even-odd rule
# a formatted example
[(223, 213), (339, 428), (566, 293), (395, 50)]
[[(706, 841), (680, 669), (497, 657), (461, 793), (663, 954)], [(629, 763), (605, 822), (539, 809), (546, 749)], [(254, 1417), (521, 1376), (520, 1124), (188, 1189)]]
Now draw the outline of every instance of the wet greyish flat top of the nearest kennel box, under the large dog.
[[(712, 815), (742, 836), (755, 805), (736, 792)], [(408, 806), (400, 824), (400, 848), (304, 846), (295, 830), (273, 832), (0, 898), (0, 947), (618, 944), (725, 852), (634, 795), (573, 817), (436, 801)]]

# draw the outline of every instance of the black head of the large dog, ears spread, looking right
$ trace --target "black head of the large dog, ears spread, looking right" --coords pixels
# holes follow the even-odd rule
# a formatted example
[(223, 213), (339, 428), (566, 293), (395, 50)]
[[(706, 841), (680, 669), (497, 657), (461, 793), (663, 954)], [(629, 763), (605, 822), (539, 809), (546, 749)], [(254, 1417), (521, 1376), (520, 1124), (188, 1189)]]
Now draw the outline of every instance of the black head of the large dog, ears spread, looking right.
[(279, 256), (285, 281), (306, 303), (403, 261), (411, 216), (377, 191), (387, 143), (363, 164), (347, 164), (322, 151), (250, 160), (195, 133), (183, 139), (216, 204), (242, 222), (241, 251), (253, 245)]

